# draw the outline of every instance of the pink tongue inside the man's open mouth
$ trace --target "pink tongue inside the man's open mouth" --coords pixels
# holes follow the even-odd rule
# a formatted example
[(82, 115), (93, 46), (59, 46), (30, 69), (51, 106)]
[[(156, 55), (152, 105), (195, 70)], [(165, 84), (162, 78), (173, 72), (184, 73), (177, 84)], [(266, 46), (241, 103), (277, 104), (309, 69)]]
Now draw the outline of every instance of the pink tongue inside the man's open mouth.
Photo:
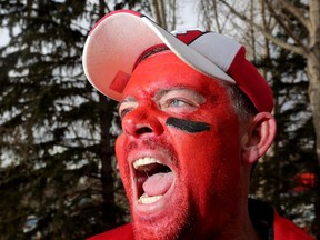
[(173, 182), (173, 172), (156, 173), (147, 179), (142, 188), (149, 197), (162, 196), (169, 190), (170, 186)]

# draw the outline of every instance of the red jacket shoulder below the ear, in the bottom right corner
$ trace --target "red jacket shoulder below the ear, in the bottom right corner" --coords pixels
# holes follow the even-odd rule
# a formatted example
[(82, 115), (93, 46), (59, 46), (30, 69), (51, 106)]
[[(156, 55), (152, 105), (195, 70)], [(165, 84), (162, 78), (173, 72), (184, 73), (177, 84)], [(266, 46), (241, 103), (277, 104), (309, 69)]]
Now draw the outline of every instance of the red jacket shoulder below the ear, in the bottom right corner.
[(308, 236), (293, 222), (280, 217), (277, 212), (274, 212), (273, 231), (274, 240), (313, 240), (311, 236)]

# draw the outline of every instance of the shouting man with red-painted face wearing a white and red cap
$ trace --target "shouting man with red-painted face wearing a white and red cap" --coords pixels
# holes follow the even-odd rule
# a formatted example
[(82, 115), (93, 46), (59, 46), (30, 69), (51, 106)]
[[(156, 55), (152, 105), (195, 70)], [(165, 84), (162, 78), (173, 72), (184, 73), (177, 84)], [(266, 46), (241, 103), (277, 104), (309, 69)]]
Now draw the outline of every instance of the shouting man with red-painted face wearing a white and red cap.
[(90, 240), (312, 239), (248, 199), (276, 121), (271, 89), (244, 53), (224, 36), (171, 34), (128, 10), (96, 24), (83, 67), (120, 102), (116, 153), (132, 223)]

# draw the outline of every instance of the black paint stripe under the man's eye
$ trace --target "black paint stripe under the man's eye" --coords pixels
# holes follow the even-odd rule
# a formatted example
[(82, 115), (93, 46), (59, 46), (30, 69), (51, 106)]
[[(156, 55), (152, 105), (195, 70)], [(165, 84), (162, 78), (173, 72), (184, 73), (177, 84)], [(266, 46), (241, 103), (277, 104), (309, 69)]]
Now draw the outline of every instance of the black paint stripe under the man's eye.
[(210, 124), (206, 122), (197, 122), (178, 118), (168, 118), (166, 123), (190, 133), (208, 131), (210, 129)]

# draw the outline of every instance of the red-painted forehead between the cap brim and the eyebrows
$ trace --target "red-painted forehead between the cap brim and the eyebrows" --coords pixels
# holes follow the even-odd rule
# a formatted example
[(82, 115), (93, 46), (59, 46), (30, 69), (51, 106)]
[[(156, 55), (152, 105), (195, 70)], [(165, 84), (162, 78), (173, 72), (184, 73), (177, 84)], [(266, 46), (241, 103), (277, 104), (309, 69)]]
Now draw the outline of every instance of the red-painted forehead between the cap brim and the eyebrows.
[(134, 69), (123, 90), (123, 99), (154, 97), (158, 91), (179, 88), (203, 96), (226, 91), (221, 81), (196, 71), (171, 51), (164, 51), (149, 57)]

